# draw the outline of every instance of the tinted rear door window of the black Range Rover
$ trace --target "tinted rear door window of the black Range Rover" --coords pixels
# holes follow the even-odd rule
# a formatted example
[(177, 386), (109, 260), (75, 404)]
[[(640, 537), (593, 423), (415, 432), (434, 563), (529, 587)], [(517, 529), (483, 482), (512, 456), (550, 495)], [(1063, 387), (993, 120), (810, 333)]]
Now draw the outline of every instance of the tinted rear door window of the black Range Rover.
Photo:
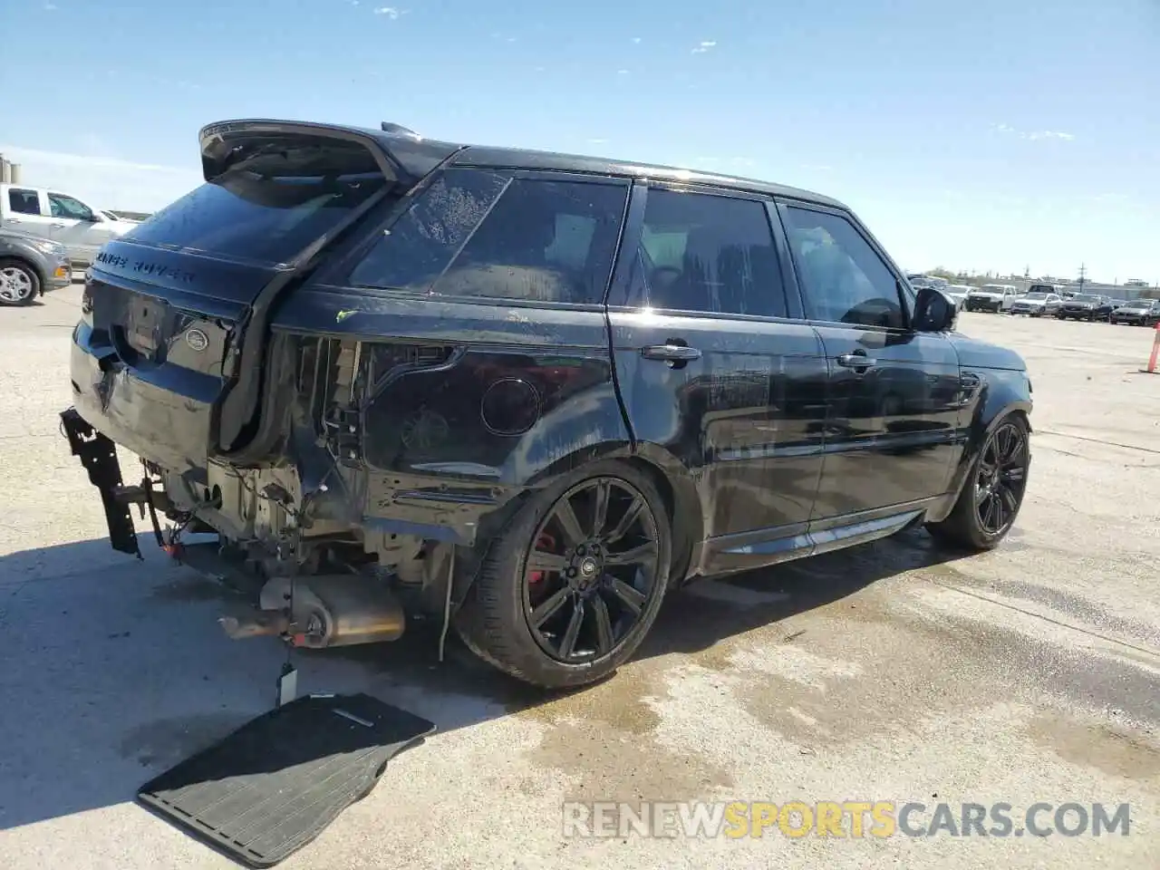
[(785, 317), (785, 288), (766, 206), (754, 200), (651, 189), (628, 302)]

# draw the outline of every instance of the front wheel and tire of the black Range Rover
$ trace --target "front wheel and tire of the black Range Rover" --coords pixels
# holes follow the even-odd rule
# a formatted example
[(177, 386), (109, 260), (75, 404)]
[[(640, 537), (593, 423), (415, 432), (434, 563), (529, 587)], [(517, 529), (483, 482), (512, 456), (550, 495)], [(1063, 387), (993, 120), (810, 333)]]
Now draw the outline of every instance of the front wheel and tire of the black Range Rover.
[(983, 552), (1007, 536), (1027, 492), (1030, 433), (1027, 419), (1018, 413), (1003, 418), (991, 430), (954, 509), (945, 520), (927, 523), (936, 541)]

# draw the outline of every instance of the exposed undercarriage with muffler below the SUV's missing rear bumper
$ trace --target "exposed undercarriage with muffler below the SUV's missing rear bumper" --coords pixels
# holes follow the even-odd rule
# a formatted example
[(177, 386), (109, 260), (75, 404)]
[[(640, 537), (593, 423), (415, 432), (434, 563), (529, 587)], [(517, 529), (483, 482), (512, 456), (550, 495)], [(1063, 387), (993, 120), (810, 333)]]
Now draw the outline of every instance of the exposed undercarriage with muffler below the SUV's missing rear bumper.
[(110, 440), (73, 409), (61, 425), (101, 493), (114, 549), (142, 557), (131, 515), (137, 506), (172, 558), (248, 595), (253, 607), (220, 618), (232, 638), (349, 646), (397, 640), (408, 612), (450, 616), (454, 545), (406, 534), (368, 538), (361, 527), (327, 516), (325, 499), (304, 499), (292, 465), (211, 462), (204, 479), (191, 481), (142, 459), (140, 483), (125, 485)]

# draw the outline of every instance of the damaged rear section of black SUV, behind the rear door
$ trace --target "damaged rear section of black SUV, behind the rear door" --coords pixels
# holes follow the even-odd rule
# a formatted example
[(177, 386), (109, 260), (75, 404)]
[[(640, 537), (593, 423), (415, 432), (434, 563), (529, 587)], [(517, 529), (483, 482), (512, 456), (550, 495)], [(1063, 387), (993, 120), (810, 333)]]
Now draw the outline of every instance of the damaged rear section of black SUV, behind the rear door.
[[(389, 640), (412, 609), (462, 628), (478, 563), (507, 556), (474, 544), (629, 443), (602, 303), (630, 180), (478, 165), (391, 124), (225, 122), (201, 146), (205, 183), (100, 252), (73, 334), (65, 430), (113, 546), (139, 554), (135, 503), (171, 549), (162, 516), (218, 532), (264, 582), (260, 611), (224, 621), (238, 636)], [(139, 485), (113, 443), (140, 457)], [(564, 571), (636, 567), (610, 552), (639, 538), (628, 486), (602, 493), (617, 536)], [(645, 544), (655, 571), (667, 554)], [(520, 675), (600, 676), (618, 617), (652, 616), (621, 586), (601, 655)], [(462, 633), (495, 660), (490, 631)]]

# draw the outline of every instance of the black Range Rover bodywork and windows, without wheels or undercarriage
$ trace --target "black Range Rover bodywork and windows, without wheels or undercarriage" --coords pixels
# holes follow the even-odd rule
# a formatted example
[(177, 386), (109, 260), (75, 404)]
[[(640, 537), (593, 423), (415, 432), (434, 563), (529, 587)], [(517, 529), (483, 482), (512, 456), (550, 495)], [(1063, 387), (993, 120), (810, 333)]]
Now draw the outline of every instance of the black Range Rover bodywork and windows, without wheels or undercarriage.
[[(904, 274), (828, 197), (399, 131), (210, 125), (208, 183), (232, 179), (245, 203), (202, 196), (255, 209), (255, 226), (298, 208), (231, 175), (234, 148), (258, 160), (267, 139), (300, 147), (303, 175), (354, 167), (374, 191), (347, 190), (302, 238), (259, 239), (261, 256), (237, 225), (179, 232), (182, 206), (159, 212), (97, 258), (72, 348), (81, 418), (226, 537), (277, 538), (289, 517), (305, 541), (397, 565), (428, 542), (486, 542), (535, 491), (619, 458), (666, 500), (680, 582), (942, 519), (989, 428), (1030, 411), (1018, 355), (915, 328)], [(341, 147), (353, 162), (334, 164), (329, 140), (374, 165)], [(572, 210), (539, 244), (549, 188)], [(732, 217), (698, 218), (690, 197)], [(666, 233), (686, 219), (677, 249)], [(826, 233), (878, 297), (822, 305)], [(556, 264), (496, 259), (516, 241)], [(693, 277), (718, 292), (713, 270), (744, 275), (749, 302), (677, 295)]]

